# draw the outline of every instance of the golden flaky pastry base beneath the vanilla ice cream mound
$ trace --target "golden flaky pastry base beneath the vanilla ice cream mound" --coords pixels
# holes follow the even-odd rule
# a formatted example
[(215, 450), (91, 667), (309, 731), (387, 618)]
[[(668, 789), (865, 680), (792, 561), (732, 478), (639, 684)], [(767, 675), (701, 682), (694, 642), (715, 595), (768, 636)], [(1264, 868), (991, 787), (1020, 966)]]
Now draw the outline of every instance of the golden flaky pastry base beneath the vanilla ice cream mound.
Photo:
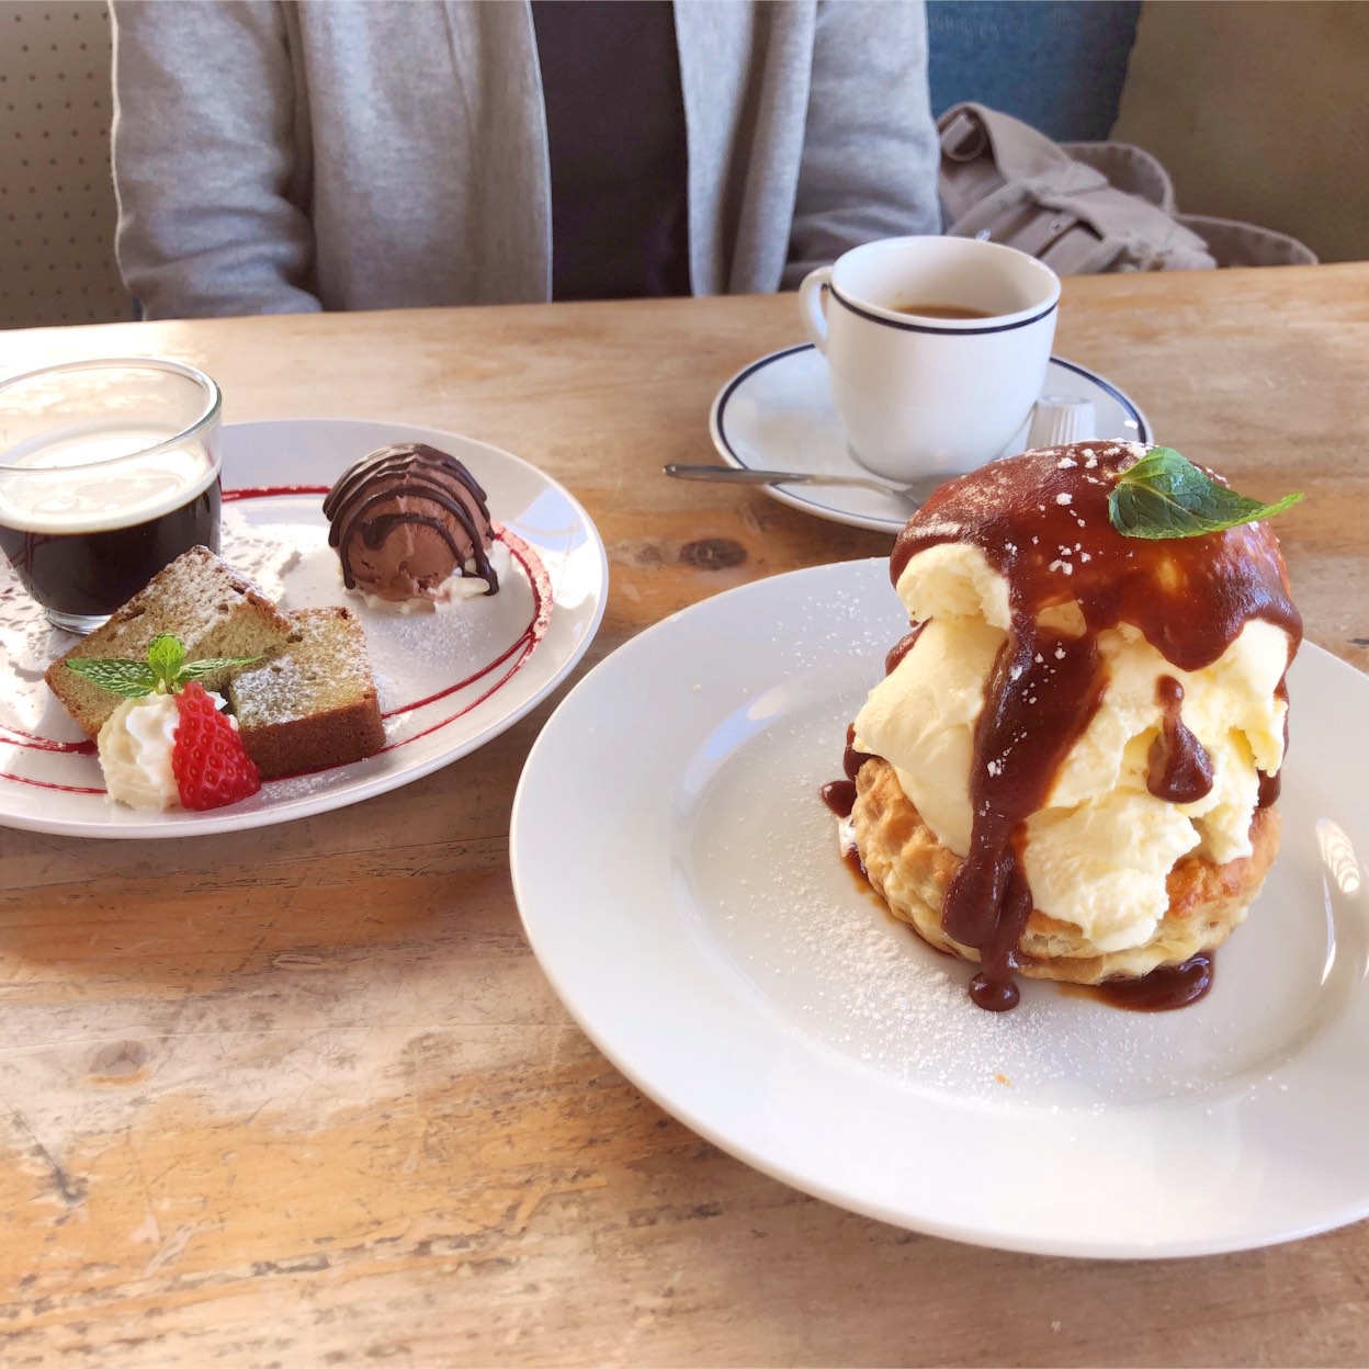
[[(953, 941), (941, 927), (946, 888), (961, 860), (936, 841), (893, 767), (879, 757), (865, 761), (856, 776), (852, 823), (865, 873), (890, 912), (938, 950), (977, 961), (977, 950)], [(1017, 951), (1020, 973), (1101, 984), (1138, 979), (1161, 965), (1179, 965), (1213, 950), (1244, 921), (1279, 852), (1279, 815), (1273, 808), (1255, 809), (1250, 841), (1250, 856), (1224, 865), (1201, 856), (1183, 857), (1169, 872), (1169, 909), (1144, 946), (1103, 953), (1073, 923), (1034, 909)]]

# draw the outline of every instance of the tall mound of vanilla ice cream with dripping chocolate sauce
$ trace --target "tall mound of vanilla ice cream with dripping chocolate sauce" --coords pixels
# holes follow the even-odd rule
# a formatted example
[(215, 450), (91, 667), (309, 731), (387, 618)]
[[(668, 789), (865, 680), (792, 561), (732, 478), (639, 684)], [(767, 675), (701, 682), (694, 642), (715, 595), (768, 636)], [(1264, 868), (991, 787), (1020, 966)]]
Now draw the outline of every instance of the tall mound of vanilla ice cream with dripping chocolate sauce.
[(942, 486), (891, 572), (914, 623), (854, 721), (961, 857), (943, 930), (1010, 979), (1032, 908), (1098, 953), (1144, 946), (1194, 853), (1250, 854), (1283, 764), (1301, 638), (1262, 523), (1124, 537), (1108, 496), (1146, 448), (1029, 452)]

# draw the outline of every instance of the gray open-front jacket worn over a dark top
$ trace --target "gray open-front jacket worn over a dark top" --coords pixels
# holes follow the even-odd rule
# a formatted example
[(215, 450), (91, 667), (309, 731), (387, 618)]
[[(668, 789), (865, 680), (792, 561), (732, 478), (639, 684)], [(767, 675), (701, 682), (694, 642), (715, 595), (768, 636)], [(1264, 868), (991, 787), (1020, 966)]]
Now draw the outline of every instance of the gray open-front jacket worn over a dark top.
[[(112, 11), (118, 253), (148, 318), (550, 297), (527, 0)], [(939, 230), (921, 0), (679, 0), (675, 30), (695, 294)]]

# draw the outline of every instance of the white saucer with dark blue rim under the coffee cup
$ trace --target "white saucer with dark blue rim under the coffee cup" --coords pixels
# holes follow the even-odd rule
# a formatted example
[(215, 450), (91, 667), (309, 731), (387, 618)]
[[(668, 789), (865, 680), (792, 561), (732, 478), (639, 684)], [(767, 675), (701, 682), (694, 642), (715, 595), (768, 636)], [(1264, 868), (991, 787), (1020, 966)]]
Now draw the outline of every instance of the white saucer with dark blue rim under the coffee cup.
[[(1050, 359), (1042, 394), (1088, 400), (1101, 441), (1151, 441), (1150, 424), (1132, 400), (1073, 361)], [(708, 427), (728, 465), (871, 479), (846, 445), (827, 387), (827, 363), (812, 342), (772, 352), (738, 371), (713, 400)], [(1024, 424), (1003, 452), (1020, 452), (1025, 441)], [(876, 533), (899, 533), (913, 512), (895, 494), (858, 486), (768, 485), (765, 490), (805, 513)]]

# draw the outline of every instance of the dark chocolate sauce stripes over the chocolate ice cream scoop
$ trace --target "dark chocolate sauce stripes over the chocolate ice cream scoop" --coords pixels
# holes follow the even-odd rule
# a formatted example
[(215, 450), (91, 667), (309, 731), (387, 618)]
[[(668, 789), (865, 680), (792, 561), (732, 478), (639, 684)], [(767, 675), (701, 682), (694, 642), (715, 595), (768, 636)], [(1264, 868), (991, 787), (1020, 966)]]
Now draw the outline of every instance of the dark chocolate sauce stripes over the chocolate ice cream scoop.
[[(472, 515), (464, 490), (475, 504), (479, 519)], [(455, 519), (470, 538), (475, 571), (465, 570), (465, 549), (457, 542), (446, 519), (428, 513), (398, 512), (372, 513), (383, 504), (408, 497), (426, 500)], [(455, 457), (424, 442), (398, 442), (381, 448), (356, 463), (329, 490), (323, 500), (323, 513), (331, 523), (329, 546), (338, 549), (342, 561), (342, 583), (356, 587), (349, 548), (360, 537), (368, 550), (378, 550), (385, 539), (401, 524), (419, 524), (441, 534), (452, 550), (456, 570), (461, 575), (474, 574), (489, 585), (486, 594), (498, 593), (498, 575), (490, 565), (486, 537), (490, 511), (485, 490), (475, 476)]]

